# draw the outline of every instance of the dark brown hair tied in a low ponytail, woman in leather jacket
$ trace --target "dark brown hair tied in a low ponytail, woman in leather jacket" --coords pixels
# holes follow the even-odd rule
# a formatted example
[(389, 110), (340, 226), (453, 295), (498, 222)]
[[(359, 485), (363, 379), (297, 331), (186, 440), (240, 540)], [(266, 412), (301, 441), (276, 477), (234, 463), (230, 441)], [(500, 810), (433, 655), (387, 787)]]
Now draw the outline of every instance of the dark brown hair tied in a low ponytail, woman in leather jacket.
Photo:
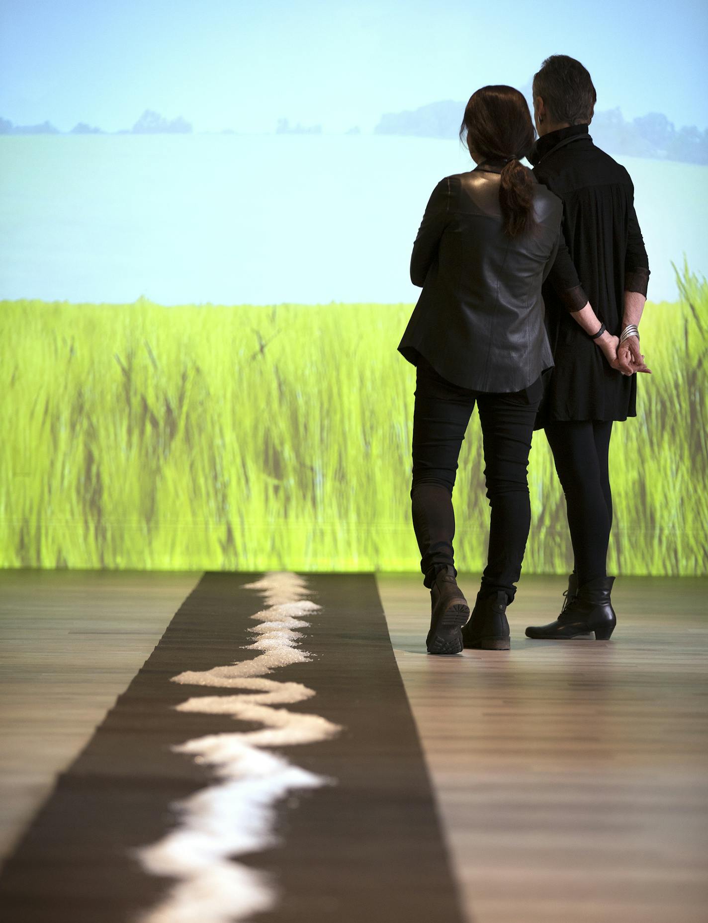
[(470, 152), (488, 161), (505, 162), (499, 186), (504, 233), (525, 234), (534, 227), (534, 177), (521, 163), (534, 146), (534, 123), (519, 90), (482, 87), (464, 110), (460, 138)]

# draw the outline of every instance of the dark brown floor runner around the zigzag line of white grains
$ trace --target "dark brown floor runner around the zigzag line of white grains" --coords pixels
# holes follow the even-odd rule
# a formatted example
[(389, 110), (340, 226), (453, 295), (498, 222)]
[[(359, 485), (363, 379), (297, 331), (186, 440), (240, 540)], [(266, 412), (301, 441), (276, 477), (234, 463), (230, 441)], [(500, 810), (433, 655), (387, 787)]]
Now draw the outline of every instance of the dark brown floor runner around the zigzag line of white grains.
[[(209, 769), (171, 745), (256, 725), (174, 711), (189, 696), (224, 689), (170, 677), (255, 654), (250, 616), (258, 574), (205, 574), (145, 665), (106, 715), (0, 874), (4, 923), (128, 923), (173, 883), (144, 872), (130, 850), (174, 826), (170, 805), (210, 783)], [(278, 808), (281, 844), (239, 862), (268, 871), (281, 898), (258, 923), (460, 923), (463, 917), (426, 765), (390, 646), (376, 581), (366, 574), (308, 575), (301, 646), (311, 662), (271, 674), (305, 683), (318, 713), (342, 733), (284, 748), (297, 765), (338, 780)], [(259, 725), (258, 725), (259, 726)], [(294, 804), (296, 802), (296, 807)], [(201, 923), (210, 923), (208, 919)]]

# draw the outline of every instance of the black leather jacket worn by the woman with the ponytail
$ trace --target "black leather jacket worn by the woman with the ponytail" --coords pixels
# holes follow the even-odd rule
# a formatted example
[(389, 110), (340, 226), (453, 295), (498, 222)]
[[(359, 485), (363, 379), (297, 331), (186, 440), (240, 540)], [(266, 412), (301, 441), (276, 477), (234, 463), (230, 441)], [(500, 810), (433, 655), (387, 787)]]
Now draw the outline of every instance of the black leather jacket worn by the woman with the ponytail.
[(553, 366), (541, 284), (563, 243), (562, 202), (537, 183), (534, 231), (504, 234), (501, 168), (485, 162), (433, 190), (411, 258), (423, 291), (398, 347), (414, 365), (423, 355), (453, 384), (486, 392), (522, 390)]

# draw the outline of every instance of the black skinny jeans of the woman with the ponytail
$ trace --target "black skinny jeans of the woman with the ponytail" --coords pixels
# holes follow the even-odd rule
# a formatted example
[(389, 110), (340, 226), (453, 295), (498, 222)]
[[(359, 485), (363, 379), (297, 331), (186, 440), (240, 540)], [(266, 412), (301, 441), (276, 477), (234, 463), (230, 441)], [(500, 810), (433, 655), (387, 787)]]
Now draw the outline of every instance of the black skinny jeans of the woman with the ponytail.
[(462, 439), (476, 403), (485, 451), (486, 496), (492, 509), (481, 593), (503, 590), (510, 602), (513, 599), (531, 525), (526, 473), (541, 395), (540, 378), (529, 388), (510, 394), (460, 388), (420, 359), (415, 382), (411, 500), (427, 587), (432, 586), (438, 570), (448, 565), (454, 568), (452, 488)]

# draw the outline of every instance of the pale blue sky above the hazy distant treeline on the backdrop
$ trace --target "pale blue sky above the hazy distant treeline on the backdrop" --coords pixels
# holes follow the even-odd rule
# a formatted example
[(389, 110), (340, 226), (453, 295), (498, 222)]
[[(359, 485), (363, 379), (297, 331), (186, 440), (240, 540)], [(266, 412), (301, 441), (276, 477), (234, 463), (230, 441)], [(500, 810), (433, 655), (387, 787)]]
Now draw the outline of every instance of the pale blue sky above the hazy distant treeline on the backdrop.
[(146, 108), (197, 130), (338, 132), (380, 114), (522, 86), (579, 58), (598, 109), (708, 126), (704, 0), (4, 0), (0, 115), (128, 128)]

